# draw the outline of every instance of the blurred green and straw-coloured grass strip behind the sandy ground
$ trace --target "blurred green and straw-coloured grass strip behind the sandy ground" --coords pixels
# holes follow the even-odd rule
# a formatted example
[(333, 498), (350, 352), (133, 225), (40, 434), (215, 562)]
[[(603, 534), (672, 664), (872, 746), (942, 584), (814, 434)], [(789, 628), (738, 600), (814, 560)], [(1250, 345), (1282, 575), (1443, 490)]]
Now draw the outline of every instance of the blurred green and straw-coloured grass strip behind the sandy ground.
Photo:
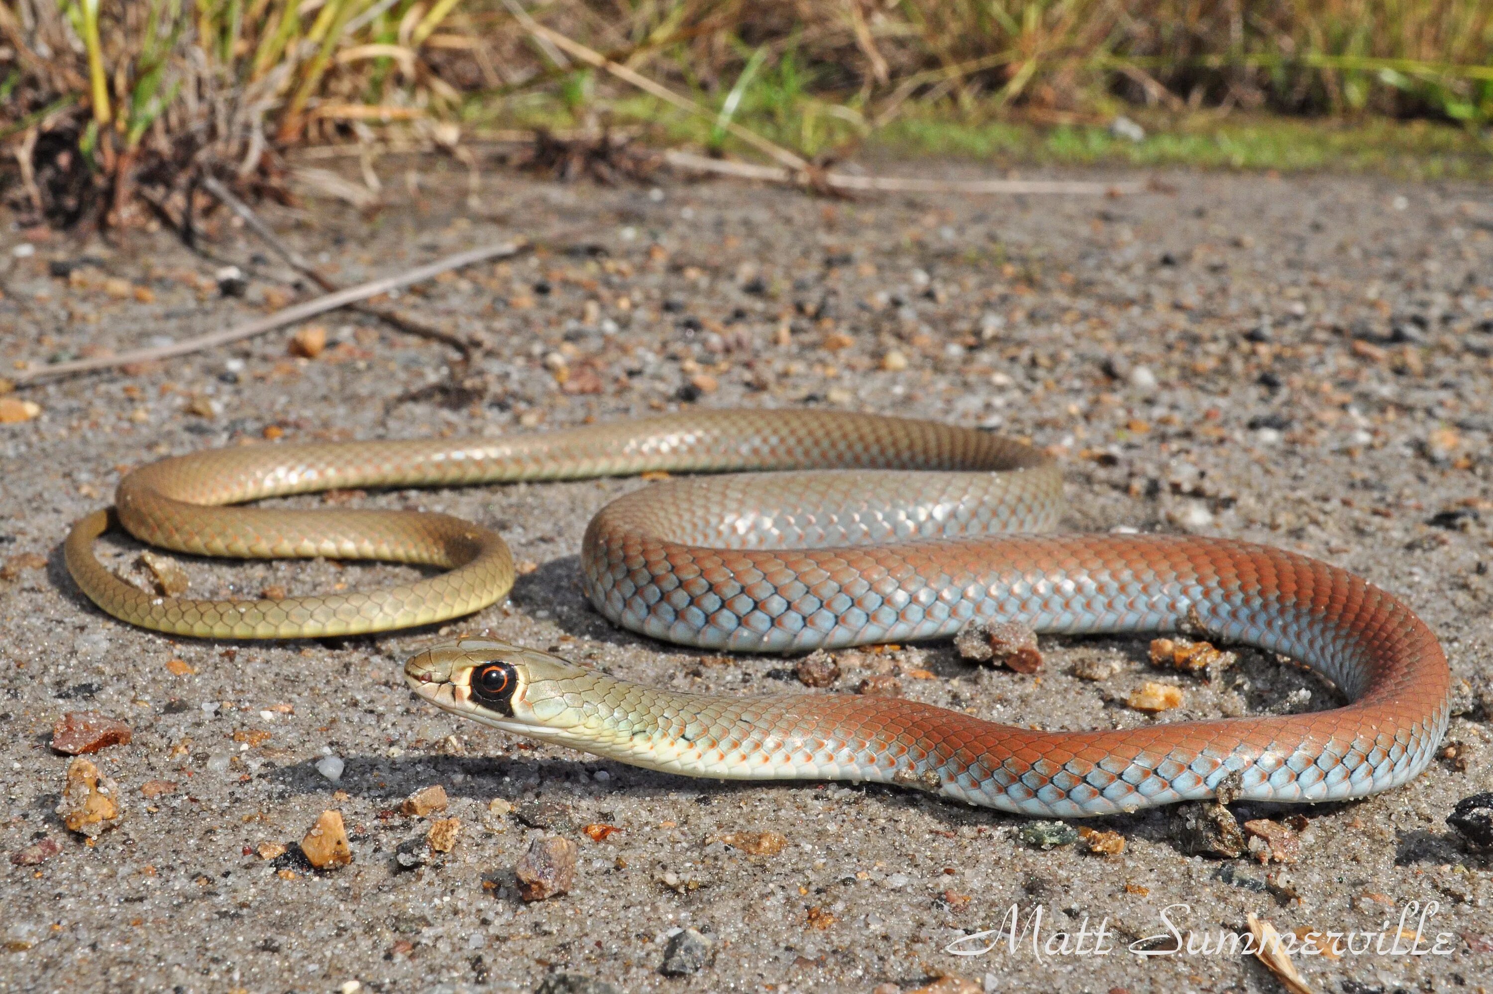
[(0, 184), (34, 221), (179, 221), (205, 172), (281, 194), (297, 143), (652, 106), (530, 18), (708, 109), (706, 143), (805, 158), (909, 109), (1493, 118), (1493, 0), (0, 0)]

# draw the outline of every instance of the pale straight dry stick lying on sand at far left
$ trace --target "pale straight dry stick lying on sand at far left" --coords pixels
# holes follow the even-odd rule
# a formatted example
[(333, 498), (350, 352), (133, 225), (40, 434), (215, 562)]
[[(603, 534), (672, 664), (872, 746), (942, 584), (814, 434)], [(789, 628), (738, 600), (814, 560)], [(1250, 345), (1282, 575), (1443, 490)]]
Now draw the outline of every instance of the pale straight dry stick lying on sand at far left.
[(439, 258), (434, 263), (417, 266), (415, 269), (405, 270), (396, 276), (384, 276), (382, 279), (358, 284), (357, 287), (348, 287), (346, 290), (339, 290), (337, 293), (327, 294), (325, 297), (317, 297), (315, 300), (308, 300), (305, 303), (285, 307), (284, 310), (276, 310), (269, 316), (257, 318), (248, 324), (240, 324), (236, 328), (225, 328), (222, 331), (213, 331), (196, 339), (187, 339), (185, 342), (175, 342), (172, 345), (163, 345), (152, 349), (136, 349), (119, 355), (99, 355), (72, 363), (40, 366), (16, 375), (15, 382), (16, 385), (21, 385), (45, 376), (66, 376), (69, 373), (84, 373), (94, 369), (110, 369), (127, 363), (148, 363), (152, 360), (200, 352), (203, 349), (227, 345), (230, 342), (242, 342), (243, 339), (252, 339), (257, 334), (264, 334), (266, 331), (273, 331), (275, 328), (284, 328), (288, 324), (315, 318), (320, 313), (336, 310), (337, 307), (345, 307), (391, 290), (399, 290), (400, 287), (424, 282), (452, 269), (461, 269), (463, 266), (470, 266), (473, 263), (484, 263), (490, 258), (508, 258), (518, 255), (526, 248), (527, 245), (523, 242), (502, 242), (499, 245), (485, 245), (482, 248), (467, 249), (466, 252), (457, 252), (455, 255)]

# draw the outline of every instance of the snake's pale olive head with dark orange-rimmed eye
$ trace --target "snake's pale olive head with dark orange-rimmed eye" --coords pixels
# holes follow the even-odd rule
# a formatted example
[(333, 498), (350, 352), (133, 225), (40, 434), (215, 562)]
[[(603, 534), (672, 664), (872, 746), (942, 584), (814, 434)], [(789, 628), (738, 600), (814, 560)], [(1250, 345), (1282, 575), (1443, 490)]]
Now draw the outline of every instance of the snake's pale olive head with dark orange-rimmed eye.
[(436, 707), (548, 740), (579, 721), (567, 691), (588, 679), (593, 670), (558, 655), (491, 639), (437, 645), (405, 663), (405, 682)]

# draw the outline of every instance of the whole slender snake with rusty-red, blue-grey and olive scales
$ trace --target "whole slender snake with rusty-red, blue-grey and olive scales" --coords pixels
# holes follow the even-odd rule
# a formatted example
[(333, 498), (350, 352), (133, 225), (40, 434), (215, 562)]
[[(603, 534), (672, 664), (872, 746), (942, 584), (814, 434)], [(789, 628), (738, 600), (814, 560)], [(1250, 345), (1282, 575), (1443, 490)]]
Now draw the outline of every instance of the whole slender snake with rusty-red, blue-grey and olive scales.
[[(600, 615), (654, 639), (791, 654), (947, 639), (991, 622), (1054, 634), (1202, 633), (1287, 657), (1347, 703), (1047, 731), (903, 697), (681, 693), (481, 637), (412, 657), (405, 678), (417, 697), (669, 773), (891, 784), (1042, 816), (1217, 797), (1363, 797), (1424, 770), (1447, 730), (1447, 658), (1393, 594), (1242, 540), (1054, 533), (1063, 481), (1050, 454), (933, 421), (687, 409), (499, 437), (211, 449), (127, 473), (115, 507), (73, 525), (64, 560), (99, 607), (173, 634), (288, 639), (431, 625), (512, 588), (514, 560), (494, 530), (424, 510), (233, 504), (333, 488), (643, 473), (660, 479), (596, 513), (579, 566)], [(142, 590), (99, 561), (94, 540), (116, 522), (187, 554), (434, 569), (375, 591), (190, 600)]]

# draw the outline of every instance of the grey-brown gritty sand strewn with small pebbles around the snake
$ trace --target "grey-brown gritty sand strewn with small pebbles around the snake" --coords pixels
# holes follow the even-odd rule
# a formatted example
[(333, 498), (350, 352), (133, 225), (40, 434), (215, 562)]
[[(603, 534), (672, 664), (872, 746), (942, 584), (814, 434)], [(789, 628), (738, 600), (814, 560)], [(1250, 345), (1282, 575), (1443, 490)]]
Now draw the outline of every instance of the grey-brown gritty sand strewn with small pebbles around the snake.
[[(470, 390), (443, 388), (443, 346), (340, 313), (321, 322), (330, 345), (317, 360), (269, 334), (28, 388), (16, 397), (40, 416), (0, 425), (0, 560), (16, 564), (0, 581), (0, 848), (61, 846), (0, 870), (0, 990), (532, 991), (569, 975), (621, 991), (870, 991), (953, 975), (985, 991), (1277, 991), (1260, 964), (1217, 951), (1248, 913), (1284, 933), (1393, 937), (1406, 909), (1408, 931), (1429, 910), (1420, 951), (1444, 933), (1447, 955), (1372, 937), (1378, 949), (1365, 951), (1360, 939), (1338, 958), (1297, 957), (1312, 990), (1493, 988), (1490, 864), (1445, 825), (1459, 798), (1493, 788), (1486, 190), (1166, 175), (1123, 199), (844, 203), (733, 184), (608, 190), (499, 175), (467, 203), (464, 173), (421, 169), (420, 190), (399, 184), (396, 206), (372, 219), (322, 201), (267, 216), (346, 282), (514, 234), (548, 240), (397, 301), (487, 337)], [(21, 233), (3, 230), (6, 367), (184, 337), (291, 298), (290, 273), (225, 218), (209, 228), (212, 258), (167, 233), (113, 245), (54, 236), (27, 255)], [(81, 264), (67, 273), (54, 261)], [(243, 298), (216, 293), (227, 263), (249, 275)], [(561, 366), (576, 393), (557, 382)], [(1103, 822), (1124, 836), (1120, 855), (1042, 851), (1021, 840), (1020, 818), (887, 788), (654, 775), (533, 748), (412, 698), (403, 660), (481, 630), (666, 687), (797, 687), (791, 663), (675, 649), (614, 630), (584, 603), (585, 521), (638, 481), (333, 496), (484, 521), (537, 564), (508, 604), (439, 631), (167, 639), (100, 613), (61, 566), (69, 522), (107, 504), (121, 472), (161, 455), (276, 434), (502, 434), (691, 401), (894, 412), (1026, 436), (1063, 457), (1070, 528), (1236, 536), (1354, 570), (1403, 596), (1442, 639), (1466, 682), (1448, 734), (1462, 761), (1438, 760), (1359, 803), (1238, 804), (1241, 821), (1308, 821), (1299, 861), (1262, 867), (1185, 854), (1168, 809)], [(140, 576), (136, 543), (100, 546)], [(179, 558), (200, 596), (415, 575)], [(1153, 670), (1145, 640), (1044, 639), (1044, 651), (1036, 678), (973, 667), (947, 645), (848, 657), (839, 690), (900, 672), (909, 697), (1044, 728), (1339, 700), (1254, 652), (1206, 684)], [(1075, 669), (1114, 672), (1091, 681)], [(1182, 687), (1179, 709), (1153, 718), (1126, 706), (1157, 679)], [(49, 748), (51, 727), (67, 710), (134, 733), (94, 757), (124, 804), (94, 845), (54, 813), (67, 758)], [(337, 782), (317, 769), (328, 755), (343, 761)], [(152, 781), (163, 784), (146, 797)], [(461, 821), (455, 848), (399, 869), (396, 848), (430, 825), (399, 813), (400, 801), (434, 784), (449, 795), (440, 815)], [(494, 798), (518, 809), (493, 810)], [(348, 825), (351, 866), (260, 857), (264, 843), (299, 842), (325, 809)], [(596, 842), (588, 824), (621, 831)], [(752, 855), (720, 840), (749, 831), (785, 846)], [(514, 864), (542, 833), (578, 843), (578, 879), (567, 895), (526, 904)], [(988, 945), (967, 936), (1008, 927), (1014, 906), (1023, 924), (1041, 912), (1036, 951), (1030, 933), (1014, 951), (948, 951)], [(1165, 936), (1163, 915), (1191, 951), (1129, 952)], [(711, 955), (664, 976), (682, 927), (709, 939)], [(1047, 945), (1057, 934), (1066, 955), (1060, 940)], [(551, 978), (548, 990), (605, 988)]]

